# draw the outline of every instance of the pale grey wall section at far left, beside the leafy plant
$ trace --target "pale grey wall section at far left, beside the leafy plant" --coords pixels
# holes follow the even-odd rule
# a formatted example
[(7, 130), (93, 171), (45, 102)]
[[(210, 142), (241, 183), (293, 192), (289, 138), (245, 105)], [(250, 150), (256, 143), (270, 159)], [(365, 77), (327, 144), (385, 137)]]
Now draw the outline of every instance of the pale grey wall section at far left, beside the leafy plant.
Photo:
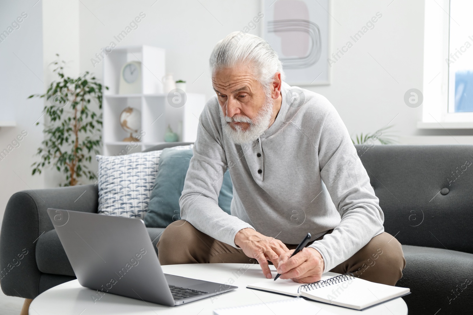
[[(15, 119), (17, 123), (16, 127), (0, 128), (0, 151), (13, 148), (0, 160), (0, 220), (15, 192), (44, 187), (42, 175), (32, 176), (30, 166), (38, 161), (35, 153), (43, 139), (41, 126), (33, 125), (42, 115), (43, 102), (26, 99), (44, 91), (42, 8), (41, 3), (34, 4), (35, 1), (0, 1), (0, 32), (7, 30), (22, 12), (27, 15), (20, 27), (0, 43), (0, 120)], [(14, 148), (12, 141), (22, 130), (27, 136)]]

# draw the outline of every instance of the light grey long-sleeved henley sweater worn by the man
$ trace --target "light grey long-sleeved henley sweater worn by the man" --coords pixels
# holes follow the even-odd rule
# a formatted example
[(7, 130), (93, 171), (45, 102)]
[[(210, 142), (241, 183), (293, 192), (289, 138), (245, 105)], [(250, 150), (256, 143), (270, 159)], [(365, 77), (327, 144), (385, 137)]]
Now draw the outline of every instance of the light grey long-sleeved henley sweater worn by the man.
[[(181, 218), (236, 248), (235, 235), (245, 228), (286, 244), (298, 244), (307, 232), (315, 239), (334, 229), (310, 246), (322, 255), (326, 272), (382, 233), (384, 215), (333, 105), (305, 89), (291, 99), (293, 88), (283, 83), (276, 120), (247, 145), (223, 136), (217, 95), (210, 98), (179, 198)], [(218, 205), (227, 169), (231, 215)]]

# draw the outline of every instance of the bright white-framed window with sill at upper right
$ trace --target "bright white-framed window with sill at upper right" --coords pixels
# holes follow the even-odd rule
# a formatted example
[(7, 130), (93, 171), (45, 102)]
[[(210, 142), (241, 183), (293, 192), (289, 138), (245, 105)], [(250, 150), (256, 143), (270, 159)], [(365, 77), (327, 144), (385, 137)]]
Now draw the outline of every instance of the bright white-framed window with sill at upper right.
[(473, 128), (472, 0), (426, 0), (422, 121), (418, 128)]

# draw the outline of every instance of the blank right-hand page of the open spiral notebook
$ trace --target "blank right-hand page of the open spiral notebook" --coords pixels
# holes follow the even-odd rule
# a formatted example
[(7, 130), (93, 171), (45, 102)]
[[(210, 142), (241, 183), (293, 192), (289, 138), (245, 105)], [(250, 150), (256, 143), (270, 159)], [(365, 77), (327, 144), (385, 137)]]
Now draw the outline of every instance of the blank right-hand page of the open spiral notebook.
[(359, 278), (303, 290), (301, 296), (334, 305), (363, 309), (409, 293), (408, 288), (370, 282)]

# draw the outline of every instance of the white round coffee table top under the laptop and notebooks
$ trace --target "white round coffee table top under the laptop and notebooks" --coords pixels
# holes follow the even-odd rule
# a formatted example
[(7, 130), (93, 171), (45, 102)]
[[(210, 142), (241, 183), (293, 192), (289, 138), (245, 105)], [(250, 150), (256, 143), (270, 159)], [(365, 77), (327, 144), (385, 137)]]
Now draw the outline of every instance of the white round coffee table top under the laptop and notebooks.
[[(183, 277), (207, 280), (219, 283), (231, 283), (238, 287), (231, 292), (214, 297), (204, 298), (181, 306), (163, 306), (151, 302), (144, 302), (133, 298), (126, 298), (106, 293), (94, 304), (92, 295), (97, 292), (87, 289), (73, 280), (62, 283), (54, 288), (44, 291), (37, 296), (30, 305), (29, 314), (48, 315), (104, 315), (104, 314), (185, 314), (185, 315), (211, 315), (213, 310), (222, 307), (243, 306), (259, 304), (292, 297), (253, 289), (246, 285), (260, 282), (263, 272), (259, 265), (251, 265), (245, 270), (244, 264), (180, 264), (162, 266), (163, 271)], [(273, 277), (276, 275), (274, 266), (270, 266)], [(245, 272), (240, 271), (243, 270)], [(238, 273), (238, 271), (240, 271)], [(368, 307), (363, 311), (352, 310), (345, 307), (333, 306), (324, 303), (312, 302), (316, 306), (332, 312), (333, 314), (393, 314), (406, 315), (407, 305), (402, 298), (395, 298), (377, 306)]]

